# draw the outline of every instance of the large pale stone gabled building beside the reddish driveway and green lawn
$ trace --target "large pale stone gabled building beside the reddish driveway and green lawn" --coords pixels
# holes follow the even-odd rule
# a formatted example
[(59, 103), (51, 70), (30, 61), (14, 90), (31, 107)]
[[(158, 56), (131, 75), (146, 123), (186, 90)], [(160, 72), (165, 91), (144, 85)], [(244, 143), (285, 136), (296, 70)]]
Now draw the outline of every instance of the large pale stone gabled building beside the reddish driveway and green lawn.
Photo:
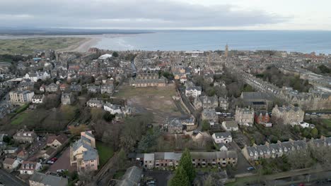
[(91, 131), (81, 132), (81, 139), (70, 147), (70, 163), (76, 163), (77, 171), (97, 171), (99, 165), (98, 150), (95, 149), (95, 137)]

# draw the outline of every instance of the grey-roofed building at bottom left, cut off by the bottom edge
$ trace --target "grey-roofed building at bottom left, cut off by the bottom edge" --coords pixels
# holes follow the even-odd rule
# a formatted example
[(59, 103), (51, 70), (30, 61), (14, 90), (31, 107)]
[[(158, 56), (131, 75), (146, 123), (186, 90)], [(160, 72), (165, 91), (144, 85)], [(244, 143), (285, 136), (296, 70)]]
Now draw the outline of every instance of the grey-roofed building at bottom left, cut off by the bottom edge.
[(30, 186), (66, 186), (68, 185), (68, 178), (35, 172), (30, 177), (29, 184)]

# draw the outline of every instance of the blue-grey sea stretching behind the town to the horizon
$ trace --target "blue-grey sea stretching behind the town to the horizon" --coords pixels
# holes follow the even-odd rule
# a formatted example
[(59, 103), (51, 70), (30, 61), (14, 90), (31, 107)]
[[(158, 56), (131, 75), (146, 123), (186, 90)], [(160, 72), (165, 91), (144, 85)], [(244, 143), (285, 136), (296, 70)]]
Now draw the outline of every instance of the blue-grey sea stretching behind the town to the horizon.
[(330, 31), (165, 30), (134, 35), (102, 35), (95, 47), (117, 51), (278, 50), (331, 54)]

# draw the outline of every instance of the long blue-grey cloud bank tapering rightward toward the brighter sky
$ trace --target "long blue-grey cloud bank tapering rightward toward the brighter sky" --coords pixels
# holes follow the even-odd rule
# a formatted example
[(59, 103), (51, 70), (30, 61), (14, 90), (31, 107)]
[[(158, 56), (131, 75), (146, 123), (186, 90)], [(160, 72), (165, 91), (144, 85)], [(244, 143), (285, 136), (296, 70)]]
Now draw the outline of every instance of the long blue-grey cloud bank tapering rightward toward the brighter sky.
[(231, 5), (202, 6), (165, 0), (3, 1), (0, 6), (3, 26), (137, 29), (243, 27), (284, 23), (289, 19), (265, 11), (238, 10)]

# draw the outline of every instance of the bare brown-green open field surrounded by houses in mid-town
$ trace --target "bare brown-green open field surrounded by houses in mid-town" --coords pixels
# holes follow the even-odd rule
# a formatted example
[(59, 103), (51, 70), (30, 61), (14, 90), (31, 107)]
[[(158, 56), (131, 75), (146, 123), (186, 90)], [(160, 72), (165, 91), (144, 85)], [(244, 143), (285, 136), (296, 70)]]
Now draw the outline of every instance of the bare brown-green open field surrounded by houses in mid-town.
[(114, 97), (127, 99), (129, 106), (138, 112), (151, 112), (156, 123), (164, 122), (166, 116), (180, 117), (182, 113), (175, 105), (175, 87), (129, 87), (122, 85)]

